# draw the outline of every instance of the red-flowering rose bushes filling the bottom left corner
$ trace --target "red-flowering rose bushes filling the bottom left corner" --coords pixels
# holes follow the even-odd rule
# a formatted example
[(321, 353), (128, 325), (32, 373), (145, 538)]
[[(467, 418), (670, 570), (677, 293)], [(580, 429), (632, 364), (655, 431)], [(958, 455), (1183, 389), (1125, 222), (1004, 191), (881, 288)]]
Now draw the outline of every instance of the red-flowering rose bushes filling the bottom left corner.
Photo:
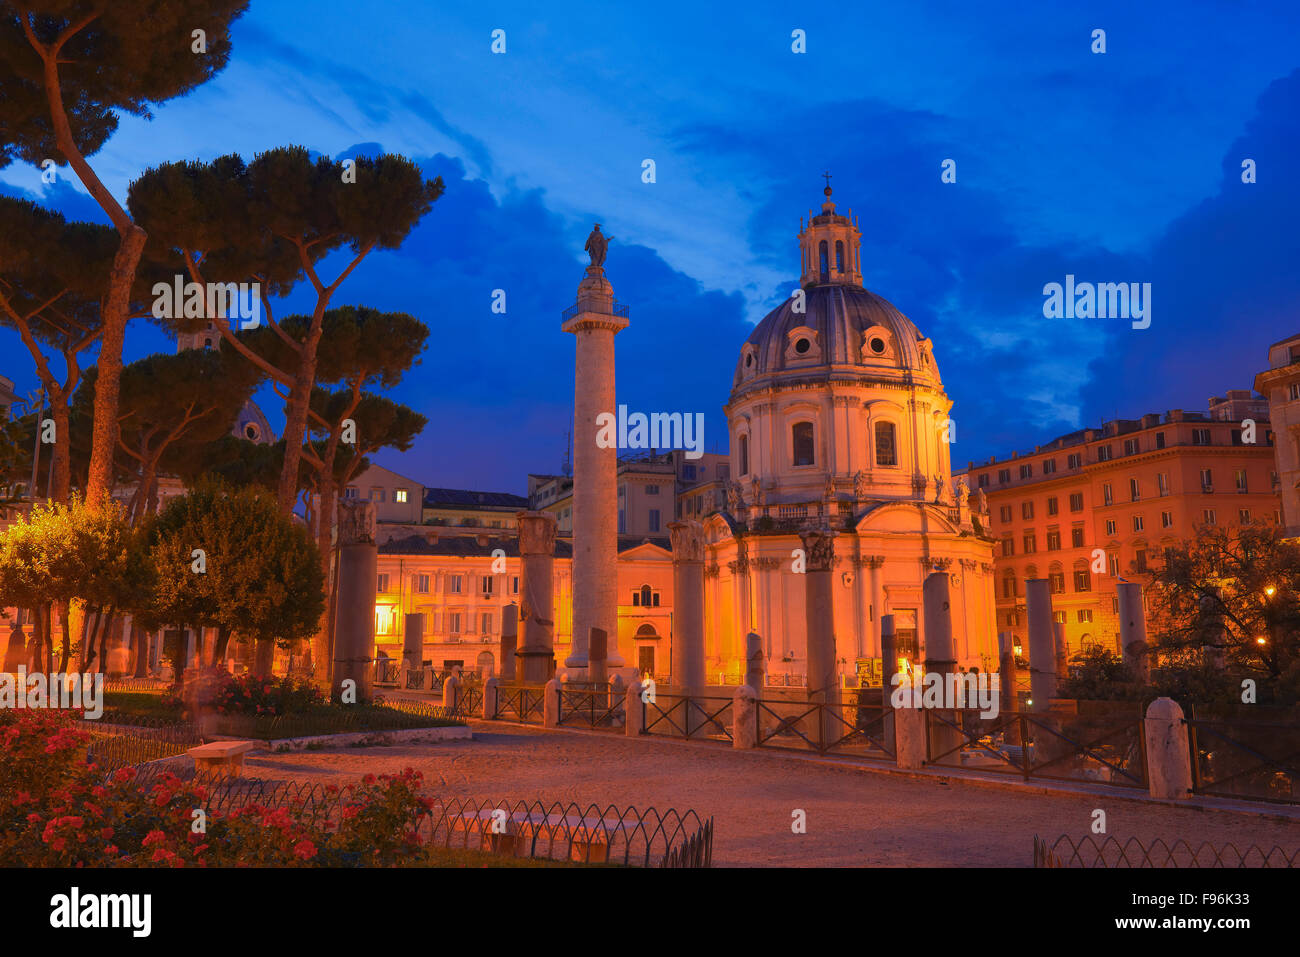
[(411, 768), (332, 788), (329, 815), (248, 804), (208, 811), (195, 832), (205, 788), (170, 774), (142, 788), (134, 768), (105, 779), (72, 716), (0, 710), (0, 866), (387, 866), (428, 854), (417, 828), (430, 805)]

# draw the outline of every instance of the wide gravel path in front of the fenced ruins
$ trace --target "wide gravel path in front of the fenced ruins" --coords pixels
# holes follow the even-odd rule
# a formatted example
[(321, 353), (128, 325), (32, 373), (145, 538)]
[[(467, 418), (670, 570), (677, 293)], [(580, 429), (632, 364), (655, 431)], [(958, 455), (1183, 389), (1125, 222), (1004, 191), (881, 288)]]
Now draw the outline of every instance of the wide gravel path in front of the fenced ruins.
[[(1300, 848), (1297, 820), (944, 784), (676, 741), (473, 727), (472, 741), (257, 754), (244, 768), (342, 784), (415, 767), (448, 796), (694, 809), (714, 818), (715, 866), (1023, 867), (1034, 835), (1088, 835), (1096, 807), (1121, 841)], [(792, 831), (796, 809), (806, 811), (806, 833)]]

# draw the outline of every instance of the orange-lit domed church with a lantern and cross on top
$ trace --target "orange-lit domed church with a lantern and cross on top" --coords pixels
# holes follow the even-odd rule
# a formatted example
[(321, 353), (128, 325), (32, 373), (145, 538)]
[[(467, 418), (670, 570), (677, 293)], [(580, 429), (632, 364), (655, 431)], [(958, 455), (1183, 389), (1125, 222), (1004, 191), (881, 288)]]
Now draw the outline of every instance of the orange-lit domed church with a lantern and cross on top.
[(880, 618), (924, 658), (922, 583), (950, 579), (958, 664), (997, 668), (993, 542), (983, 493), (952, 482), (952, 400), (933, 343), (862, 285), (861, 234), (836, 212), (800, 222), (800, 289), (740, 350), (725, 508), (705, 520), (706, 659), (744, 671), (745, 635), (772, 675), (806, 674), (801, 533), (835, 532), (841, 675), (879, 681)]

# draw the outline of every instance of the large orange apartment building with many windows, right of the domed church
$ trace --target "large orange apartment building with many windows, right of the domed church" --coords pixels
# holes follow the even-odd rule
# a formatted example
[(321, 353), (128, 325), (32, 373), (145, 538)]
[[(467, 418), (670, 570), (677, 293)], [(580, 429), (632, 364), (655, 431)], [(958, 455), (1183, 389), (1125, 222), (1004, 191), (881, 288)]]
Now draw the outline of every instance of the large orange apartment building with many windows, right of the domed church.
[(1026, 579), (1050, 581), (1070, 654), (1118, 651), (1118, 581), (1145, 581), (1144, 570), (1201, 525), (1282, 523), (1268, 403), (1249, 390), (1212, 398), (1208, 412), (1119, 419), (970, 463), (966, 478), (988, 495), (998, 542), (997, 628), (1022, 648)]

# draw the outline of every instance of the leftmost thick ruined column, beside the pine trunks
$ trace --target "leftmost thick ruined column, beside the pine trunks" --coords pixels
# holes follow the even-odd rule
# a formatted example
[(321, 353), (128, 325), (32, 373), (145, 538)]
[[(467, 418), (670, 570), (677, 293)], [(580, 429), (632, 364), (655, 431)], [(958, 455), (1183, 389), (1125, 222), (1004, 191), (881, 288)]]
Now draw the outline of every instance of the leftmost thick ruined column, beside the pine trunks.
[(343, 683), (354, 681), (356, 702), (372, 697), (374, 663), (374, 596), (378, 589), (380, 547), (374, 542), (374, 506), (341, 499), (338, 503), (338, 596), (334, 612), (334, 662), (330, 688), (341, 701)]

